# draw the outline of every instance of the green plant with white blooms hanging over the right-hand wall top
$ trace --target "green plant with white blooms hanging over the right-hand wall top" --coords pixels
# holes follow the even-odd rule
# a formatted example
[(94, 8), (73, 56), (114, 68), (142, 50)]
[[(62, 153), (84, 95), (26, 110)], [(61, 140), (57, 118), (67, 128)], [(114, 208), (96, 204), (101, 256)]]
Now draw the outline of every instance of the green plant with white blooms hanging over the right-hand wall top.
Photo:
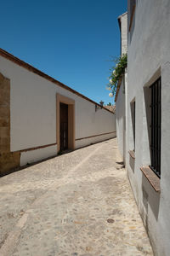
[(125, 71), (125, 68), (127, 67), (127, 54), (121, 55), (119, 58), (117, 58), (115, 61), (115, 66), (111, 68), (111, 75), (109, 77), (109, 84), (108, 90), (111, 90), (111, 93), (109, 96), (115, 96), (116, 95), (116, 88), (119, 79), (121, 79), (122, 74)]

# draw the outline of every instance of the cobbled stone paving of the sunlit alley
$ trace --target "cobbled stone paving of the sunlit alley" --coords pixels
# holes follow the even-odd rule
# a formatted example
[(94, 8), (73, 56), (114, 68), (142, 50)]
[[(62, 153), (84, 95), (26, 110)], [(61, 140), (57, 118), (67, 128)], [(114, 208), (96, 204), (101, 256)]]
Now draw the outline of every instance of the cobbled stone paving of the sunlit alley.
[(1, 256), (153, 255), (116, 139), (0, 178)]

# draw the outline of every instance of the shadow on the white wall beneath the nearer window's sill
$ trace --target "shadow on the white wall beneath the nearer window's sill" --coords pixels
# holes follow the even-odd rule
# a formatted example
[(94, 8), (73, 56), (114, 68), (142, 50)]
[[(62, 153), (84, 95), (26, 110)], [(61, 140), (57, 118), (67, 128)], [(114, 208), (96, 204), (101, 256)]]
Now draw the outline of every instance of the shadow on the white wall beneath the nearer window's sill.
[(146, 177), (142, 177), (142, 192), (143, 192), (143, 204), (145, 210), (145, 221), (146, 221), (146, 229), (147, 229), (147, 216), (148, 216), (148, 206), (150, 206), (151, 211), (153, 212), (156, 221), (159, 215), (159, 207), (160, 207), (160, 193), (156, 192), (155, 189), (150, 185), (148, 179)]

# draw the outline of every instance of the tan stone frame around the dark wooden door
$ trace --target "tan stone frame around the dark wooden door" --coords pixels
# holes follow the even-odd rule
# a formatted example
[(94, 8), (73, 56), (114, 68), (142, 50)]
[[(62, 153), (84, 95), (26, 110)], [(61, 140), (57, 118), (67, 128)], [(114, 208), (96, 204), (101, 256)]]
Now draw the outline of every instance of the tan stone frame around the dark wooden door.
[(60, 150), (60, 121), (59, 121), (59, 103), (68, 105), (68, 149), (75, 149), (75, 101), (69, 97), (56, 94), (56, 137), (57, 137), (57, 152)]

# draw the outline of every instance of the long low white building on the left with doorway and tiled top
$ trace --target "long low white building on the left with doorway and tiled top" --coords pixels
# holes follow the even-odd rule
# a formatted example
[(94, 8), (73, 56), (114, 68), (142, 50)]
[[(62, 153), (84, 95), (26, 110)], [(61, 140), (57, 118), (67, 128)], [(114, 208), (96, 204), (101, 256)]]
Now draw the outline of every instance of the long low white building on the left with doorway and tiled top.
[(0, 174), (116, 137), (115, 114), (0, 49)]

